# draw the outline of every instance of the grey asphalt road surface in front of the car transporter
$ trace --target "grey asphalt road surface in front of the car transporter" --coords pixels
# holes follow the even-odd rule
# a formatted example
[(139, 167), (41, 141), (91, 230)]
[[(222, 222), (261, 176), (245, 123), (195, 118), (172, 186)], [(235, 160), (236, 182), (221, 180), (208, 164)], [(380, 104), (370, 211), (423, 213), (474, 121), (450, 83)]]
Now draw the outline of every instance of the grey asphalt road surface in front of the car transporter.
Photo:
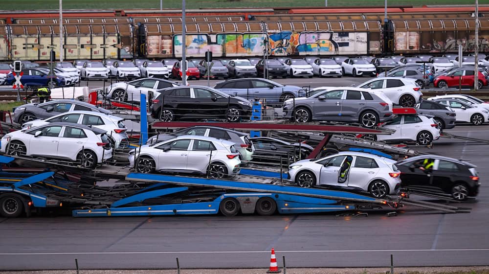
[[(341, 80), (341, 79), (340, 79)], [(489, 139), (489, 126), (449, 132)], [(471, 213), (0, 218), (0, 270), (481, 266), (489, 258), (489, 145), (441, 139), (423, 152), (468, 160), (482, 178)], [(419, 197), (421, 198), (421, 197)], [(427, 198), (425, 198), (427, 199)]]

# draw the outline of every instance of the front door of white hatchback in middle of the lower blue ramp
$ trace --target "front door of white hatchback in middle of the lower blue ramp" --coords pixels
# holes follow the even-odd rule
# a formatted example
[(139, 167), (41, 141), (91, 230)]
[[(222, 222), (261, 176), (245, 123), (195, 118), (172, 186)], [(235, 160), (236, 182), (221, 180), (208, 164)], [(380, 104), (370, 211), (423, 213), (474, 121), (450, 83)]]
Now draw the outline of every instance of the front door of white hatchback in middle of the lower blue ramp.
[(171, 140), (156, 147), (160, 150), (156, 170), (187, 169), (190, 142), (191, 139)]

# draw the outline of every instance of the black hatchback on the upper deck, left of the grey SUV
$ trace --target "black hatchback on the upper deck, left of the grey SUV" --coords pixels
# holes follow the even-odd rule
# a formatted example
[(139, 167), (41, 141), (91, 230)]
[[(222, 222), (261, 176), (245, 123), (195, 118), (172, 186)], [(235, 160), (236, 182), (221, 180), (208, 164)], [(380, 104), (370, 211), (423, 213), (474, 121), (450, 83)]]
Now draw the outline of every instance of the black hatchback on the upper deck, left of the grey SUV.
[[(161, 121), (227, 119), (229, 122), (248, 120), (251, 103), (205, 86), (174, 87), (158, 90), (151, 116)], [(161, 106), (163, 105), (163, 108)]]

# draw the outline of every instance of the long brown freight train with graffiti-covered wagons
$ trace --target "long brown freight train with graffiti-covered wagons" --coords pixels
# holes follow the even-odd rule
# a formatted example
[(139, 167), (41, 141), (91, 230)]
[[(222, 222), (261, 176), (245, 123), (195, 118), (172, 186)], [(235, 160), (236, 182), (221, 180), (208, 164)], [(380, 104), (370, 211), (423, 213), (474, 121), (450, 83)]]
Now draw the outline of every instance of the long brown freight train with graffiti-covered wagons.
[[(475, 45), (471, 10), (389, 8), (387, 23), (375, 8), (357, 13), (336, 9), (190, 11), (186, 54), (203, 57), (208, 50), (222, 58), (263, 56), (265, 50), (269, 56), (443, 54), (457, 52), (459, 45), (470, 52)], [(202, 16), (205, 12), (210, 15)], [(480, 51), (489, 52), (489, 7), (481, 7), (480, 13)], [(177, 11), (107, 14), (64, 19), (66, 60), (181, 56), (182, 24)], [(125, 16), (117, 16), (121, 14)], [(46, 14), (43, 18), (42, 13), (28, 19), (11, 16), (1, 19), (0, 13), (1, 61), (48, 61), (51, 48), (59, 57), (57, 19)]]

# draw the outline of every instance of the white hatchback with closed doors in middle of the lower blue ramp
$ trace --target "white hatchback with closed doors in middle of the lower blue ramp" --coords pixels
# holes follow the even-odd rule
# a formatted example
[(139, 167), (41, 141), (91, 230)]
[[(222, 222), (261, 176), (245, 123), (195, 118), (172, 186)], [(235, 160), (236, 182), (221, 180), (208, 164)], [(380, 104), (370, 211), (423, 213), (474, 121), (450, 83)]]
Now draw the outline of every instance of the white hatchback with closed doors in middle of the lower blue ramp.
[(234, 143), (212, 137), (182, 135), (129, 152), (136, 172), (196, 173), (224, 178), (240, 172), (240, 153)]

